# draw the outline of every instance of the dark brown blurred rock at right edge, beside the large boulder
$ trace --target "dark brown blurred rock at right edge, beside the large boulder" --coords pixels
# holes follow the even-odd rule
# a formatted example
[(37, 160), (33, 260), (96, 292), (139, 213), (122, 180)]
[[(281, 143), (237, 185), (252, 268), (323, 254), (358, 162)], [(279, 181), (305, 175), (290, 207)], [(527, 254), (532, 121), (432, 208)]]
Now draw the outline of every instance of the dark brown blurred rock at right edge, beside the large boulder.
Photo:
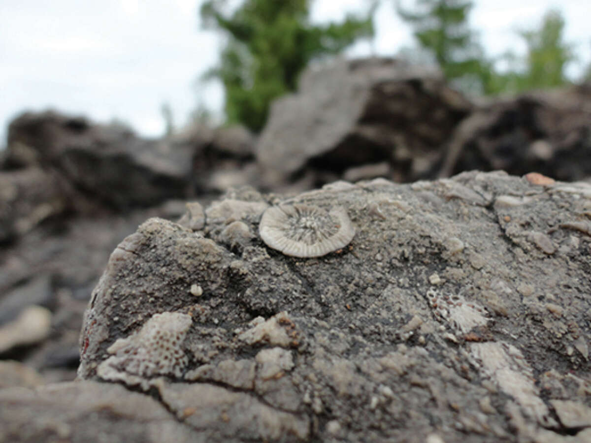
[(495, 100), (457, 126), (439, 177), (466, 170), (591, 176), (591, 84)]

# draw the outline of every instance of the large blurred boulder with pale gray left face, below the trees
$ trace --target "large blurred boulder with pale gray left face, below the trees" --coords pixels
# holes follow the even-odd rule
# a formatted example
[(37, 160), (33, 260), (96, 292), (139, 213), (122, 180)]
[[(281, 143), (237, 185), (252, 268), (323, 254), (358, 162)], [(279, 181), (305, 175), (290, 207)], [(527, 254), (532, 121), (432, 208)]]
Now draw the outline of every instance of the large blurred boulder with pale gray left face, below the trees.
[(341, 61), (306, 71), (297, 94), (273, 103), (256, 157), (271, 186), (306, 173), (326, 183), (382, 161), (390, 168), (378, 175), (416, 180), (471, 108), (436, 71), (390, 58)]

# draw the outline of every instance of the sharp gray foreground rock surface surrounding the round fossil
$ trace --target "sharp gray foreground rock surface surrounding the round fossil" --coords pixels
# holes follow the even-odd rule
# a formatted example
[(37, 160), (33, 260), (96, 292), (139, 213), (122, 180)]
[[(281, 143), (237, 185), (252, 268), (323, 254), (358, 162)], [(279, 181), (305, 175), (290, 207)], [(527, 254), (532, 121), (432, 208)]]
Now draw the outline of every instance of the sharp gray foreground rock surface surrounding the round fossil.
[[(118, 380), (197, 441), (589, 441), (591, 185), (467, 172), (227, 197), (203, 230), (150, 219), (115, 249), (80, 379), (171, 312), (186, 359)], [(300, 259), (222, 240), (296, 203), (344, 207), (352, 243)]]

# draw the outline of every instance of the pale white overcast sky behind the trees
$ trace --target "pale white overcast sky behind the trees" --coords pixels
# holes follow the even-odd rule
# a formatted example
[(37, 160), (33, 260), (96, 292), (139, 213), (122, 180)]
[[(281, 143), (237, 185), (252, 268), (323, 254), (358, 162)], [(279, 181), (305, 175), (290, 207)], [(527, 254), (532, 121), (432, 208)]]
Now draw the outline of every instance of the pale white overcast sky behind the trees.
[[(236, 0), (234, 0), (236, 1)], [(414, 2), (406, 0), (405, 5)], [(511, 48), (523, 52), (514, 30), (540, 23), (559, 4), (566, 40), (576, 43), (580, 75), (590, 61), (588, 0), (481, 0), (470, 16), (489, 55)], [(223, 93), (217, 84), (196, 86), (196, 78), (217, 61), (222, 45), (212, 31), (199, 28), (199, 0), (1, 0), (0, 146), (8, 122), (24, 110), (54, 108), (108, 122), (129, 123), (141, 135), (164, 131), (161, 105), (168, 103), (177, 125), (203, 103), (217, 113)], [(316, 0), (314, 21), (343, 18), (367, 0)], [(349, 54), (372, 51), (393, 55), (413, 43), (410, 28), (383, 0), (375, 18), (372, 44), (355, 45)]]

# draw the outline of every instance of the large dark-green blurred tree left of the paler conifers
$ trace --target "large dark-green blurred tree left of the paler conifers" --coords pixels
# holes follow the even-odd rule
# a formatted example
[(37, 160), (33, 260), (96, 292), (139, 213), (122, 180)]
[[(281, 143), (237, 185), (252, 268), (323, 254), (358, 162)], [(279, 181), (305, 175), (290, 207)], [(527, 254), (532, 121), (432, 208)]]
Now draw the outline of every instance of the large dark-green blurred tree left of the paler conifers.
[(320, 26), (309, 21), (309, 3), (245, 0), (232, 14), (223, 12), (224, 0), (203, 4), (203, 25), (228, 37), (220, 65), (205, 76), (223, 83), (228, 123), (260, 131), (271, 101), (296, 89), (299, 74), (311, 60), (337, 54), (358, 38), (373, 35), (375, 5), (366, 17), (349, 15), (340, 24)]

